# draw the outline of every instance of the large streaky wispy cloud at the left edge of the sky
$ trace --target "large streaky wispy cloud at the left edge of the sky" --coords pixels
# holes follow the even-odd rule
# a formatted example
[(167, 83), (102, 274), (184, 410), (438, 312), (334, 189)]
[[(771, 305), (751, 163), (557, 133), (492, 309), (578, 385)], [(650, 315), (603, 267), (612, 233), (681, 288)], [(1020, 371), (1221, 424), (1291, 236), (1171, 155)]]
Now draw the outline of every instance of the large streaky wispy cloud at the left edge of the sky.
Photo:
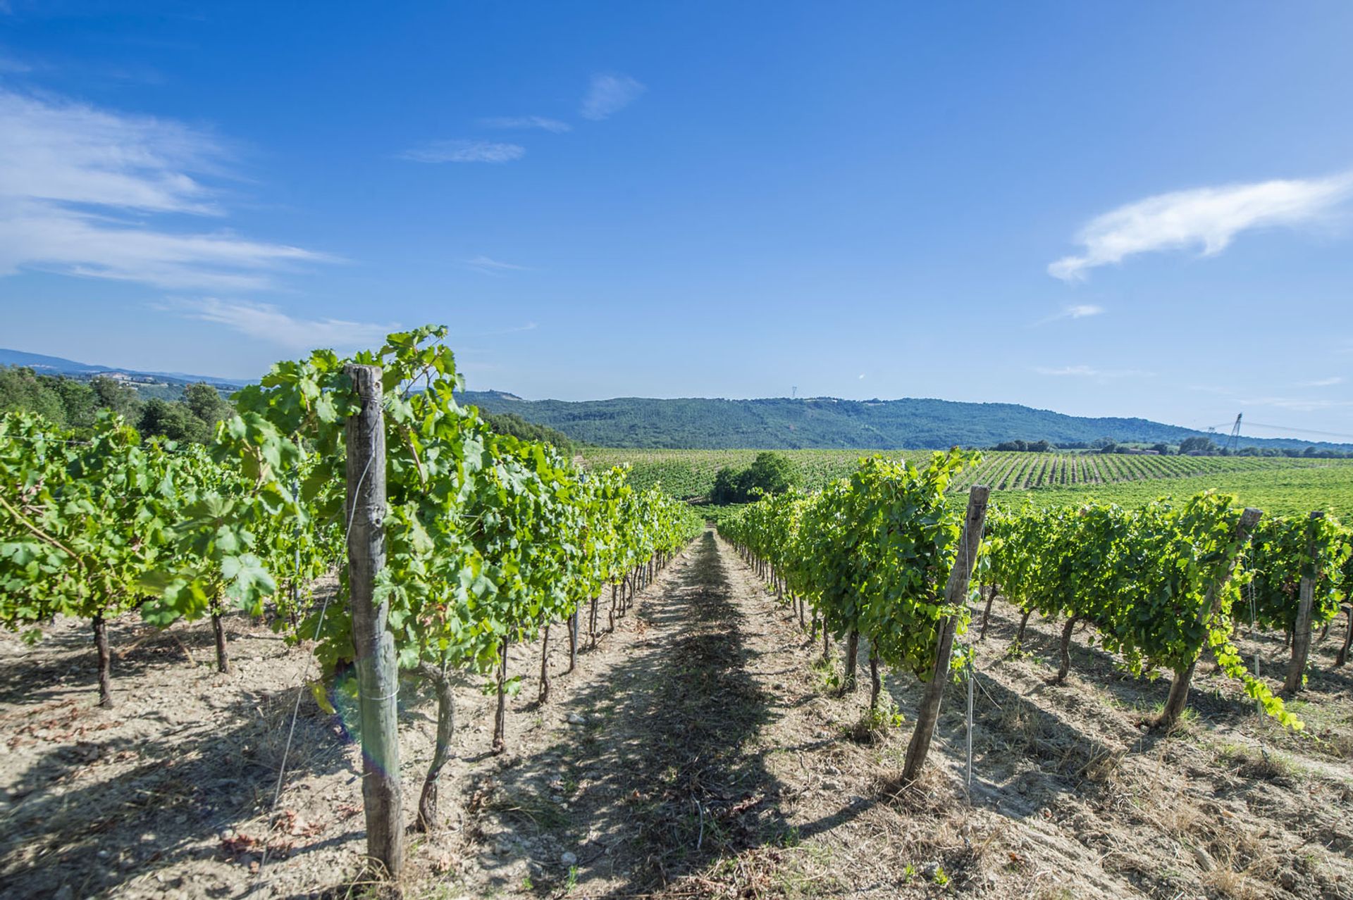
[(175, 122), (0, 91), (0, 276), (38, 269), (233, 291), (331, 259), (227, 230), (150, 224), (162, 214), (223, 218), (202, 177), (223, 174), (226, 161), (215, 138)]

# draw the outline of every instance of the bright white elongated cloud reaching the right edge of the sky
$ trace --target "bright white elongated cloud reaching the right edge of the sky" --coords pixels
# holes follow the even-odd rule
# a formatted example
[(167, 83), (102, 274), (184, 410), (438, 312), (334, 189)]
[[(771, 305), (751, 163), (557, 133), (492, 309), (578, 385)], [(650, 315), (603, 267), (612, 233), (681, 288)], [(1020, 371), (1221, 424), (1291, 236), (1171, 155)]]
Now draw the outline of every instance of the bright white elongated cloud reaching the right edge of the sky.
[(1095, 266), (1154, 250), (1201, 247), (1203, 255), (1215, 255), (1242, 231), (1311, 222), (1350, 195), (1353, 174), (1196, 188), (1146, 197), (1092, 219), (1077, 236), (1085, 251), (1053, 262), (1047, 273), (1076, 281)]

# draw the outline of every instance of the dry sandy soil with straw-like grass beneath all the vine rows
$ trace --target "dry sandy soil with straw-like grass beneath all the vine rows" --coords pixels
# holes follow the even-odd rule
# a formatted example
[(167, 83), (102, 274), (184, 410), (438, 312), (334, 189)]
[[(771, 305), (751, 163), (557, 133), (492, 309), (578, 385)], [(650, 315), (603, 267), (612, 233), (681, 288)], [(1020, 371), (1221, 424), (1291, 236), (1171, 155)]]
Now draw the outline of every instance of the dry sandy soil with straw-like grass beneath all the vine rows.
[[(511, 647), (522, 686), (506, 754), (488, 753), (492, 697), (469, 680), (457, 689), (444, 822), (410, 836), (405, 896), (1353, 897), (1353, 704), (1348, 670), (1329, 665), (1337, 642), (1316, 645), (1298, 704), (1314, 738), (1256, 718), (1208, 666), (1195, 712), (1165, 738), (1137, 727), (1165, 681), (1124, 677), (1078, 636), (1055, 685), (1061, 623), (1030, 622), (1011, 654), (1017, 619), (997, 601), (974, 647), (971, 796), (962, 685), (923, 782), (890, 796), (921, 685), (889, 674), (907, 720), (851, 739), (867, 691), (835, 689), (840, 647), (823, 659), (706, 532), (595, 646), (583, 639), (570, 674), (555, 630), (544, 705), (538, 643)], [(230, 630), (237, 670), (222, 676), (210, 628), (116, 623), (115, 709), (93, 705), (81, 623), (34, 647), (0, 635), (0, 896), (364, 895), (346, 719), (299, 689), (268, 838), (314, 664), (260, 623)], [(1281, 672), (1280, 642), (1243, 649)], [(400, 697), (411, 818), (433, 704), (413, 684)]]

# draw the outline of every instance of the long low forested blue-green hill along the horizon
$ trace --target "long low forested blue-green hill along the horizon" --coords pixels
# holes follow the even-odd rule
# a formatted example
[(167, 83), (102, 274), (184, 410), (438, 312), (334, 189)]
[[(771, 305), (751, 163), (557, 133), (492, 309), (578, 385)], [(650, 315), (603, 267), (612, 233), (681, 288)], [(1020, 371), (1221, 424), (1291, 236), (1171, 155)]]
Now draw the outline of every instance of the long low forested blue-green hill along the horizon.
[[(1086, 419), (1012, 403), (951, 400), (522, 400), (499, 391), (463, 396), (486, 412), (514, 412), (603, 447), (924, 449), (1046, 439), (1058, 445), (1114, 438), (1178, 443), (1200, 432), (1147, 419)], [(1307, 441), (1242, 438), (1243, 446), (1306, 447)], [(1348, 445), (1318, 445), (1349, 449)]]

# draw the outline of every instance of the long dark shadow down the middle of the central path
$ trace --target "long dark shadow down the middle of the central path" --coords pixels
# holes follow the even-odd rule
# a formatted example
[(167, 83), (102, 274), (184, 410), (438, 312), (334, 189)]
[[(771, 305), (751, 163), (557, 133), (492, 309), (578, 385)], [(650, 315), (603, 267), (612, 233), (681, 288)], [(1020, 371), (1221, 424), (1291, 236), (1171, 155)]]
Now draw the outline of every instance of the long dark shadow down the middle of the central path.
[(744, 669), (751, 651), (713, 534), (689, 553), (686, 570), (637, 607), (630, 655), (563, 708), (566, 738), (495, 784), (465, 785), (467, 805), (505, 827), (479, 835), (480, 865), (503, 872), (494, 886), (507, 886), (495, 850), (509, 835), (537, 849), (530, 877), (543, 896), (570, 882), (563, 853), (576, 857), (580, 891), (628, 896), (783, 839), (781, 785), (751, 746), (773, 699)]

